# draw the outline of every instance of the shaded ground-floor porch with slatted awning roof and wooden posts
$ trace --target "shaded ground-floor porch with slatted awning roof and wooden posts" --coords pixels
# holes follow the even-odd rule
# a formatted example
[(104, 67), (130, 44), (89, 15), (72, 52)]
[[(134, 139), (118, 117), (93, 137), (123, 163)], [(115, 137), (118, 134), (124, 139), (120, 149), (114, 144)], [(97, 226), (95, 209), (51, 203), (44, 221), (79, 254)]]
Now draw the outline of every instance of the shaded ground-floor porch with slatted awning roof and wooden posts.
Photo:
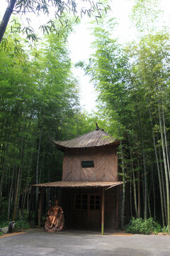
[(55, 187), (61, 190), (65, 230), (94, 230), (102, 235), (109, 229), (118, 230), (121, 184), (121, 181), (58, 181), (34, 185), (40, 187), (38, 226), (43, 191)]

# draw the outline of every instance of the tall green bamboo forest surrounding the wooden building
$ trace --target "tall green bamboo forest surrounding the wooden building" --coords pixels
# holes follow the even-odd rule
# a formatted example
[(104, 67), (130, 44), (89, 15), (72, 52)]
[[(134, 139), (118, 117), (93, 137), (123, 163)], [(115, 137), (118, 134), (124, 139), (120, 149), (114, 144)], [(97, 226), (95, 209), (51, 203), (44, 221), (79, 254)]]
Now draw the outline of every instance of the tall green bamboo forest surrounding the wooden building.
[[(20, 16), (11, 16), (0, 44), (0, 223), (38, 225), (40, 191), (32, 185), (62, 181), (63, 153), (50, 138), (79, 137), (97, 122), (120, 141), (120, 228), (152, 219), (170, 234), (169, 26), (159, 0), (130, 1), (135, 37), (121, 41), (109, 2), (86, 11), (92, 51), (77, 63), (70, 57), (69, 36), (82, 21), (74, 11), (63, 7), (38, 35), (23, 29)], [(81, 81), (73, 69), (96, 90), (91, 112), (81, 105)], [(56, 193), (61, 191), (45, 188), (46, 204)], [(44, 204), (42, 225), (45, 213)]]

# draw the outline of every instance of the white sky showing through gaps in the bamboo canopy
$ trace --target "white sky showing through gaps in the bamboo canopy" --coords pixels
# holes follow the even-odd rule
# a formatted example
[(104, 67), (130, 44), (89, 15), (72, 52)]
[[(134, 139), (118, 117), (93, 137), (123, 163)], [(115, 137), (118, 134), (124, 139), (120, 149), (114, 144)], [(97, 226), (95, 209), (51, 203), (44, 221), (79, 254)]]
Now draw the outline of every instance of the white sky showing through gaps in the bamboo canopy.
[[(166, 24), (169, 26), (170, 1), (161, 0), (161, 2), (164, 9)], [(109, 4), (111, 6), (111, 17), (117, 18), (118, 21), (118, 27), (113, 31), (113, 36), (115, 36), (115, 38), (119, 38), (120, 43), (131, 41), (132, 38), (135, 38), (135, 29), (132, 28), (132, 23), (129, 18), (132, 4), (132, 0), (111, 0)], [(1, 0), (1, 16), (4, 14), (6, 5), (6, 0)], [(35, 27), (38, 27), (40, 23), (44, 23), (42, 21), (45, 20), (45, 17), (34, 16), (33, 19), (32, 26), (35, 24)], [(93, 41), (93, 37), (89, 31), (89, 21), (89, 18), (86, 16), (82, 18), (81, 24), (79, 24), (75, 28), (74, 33), (69, 36), (68, 42), (72, 63), (77, 63), (79, 60), (88, 60), (92, 53), (91, 41)], [(96, 110), (97, 93), (95, 92), (93, 85), (89, 82), (89, 77), (84, 75), (83, 70), (80, 68), (73, 68), (73, 73), (79, 80), (81, 107), (84, 108), (86, 112), (91, 113), (93, 110)]]

